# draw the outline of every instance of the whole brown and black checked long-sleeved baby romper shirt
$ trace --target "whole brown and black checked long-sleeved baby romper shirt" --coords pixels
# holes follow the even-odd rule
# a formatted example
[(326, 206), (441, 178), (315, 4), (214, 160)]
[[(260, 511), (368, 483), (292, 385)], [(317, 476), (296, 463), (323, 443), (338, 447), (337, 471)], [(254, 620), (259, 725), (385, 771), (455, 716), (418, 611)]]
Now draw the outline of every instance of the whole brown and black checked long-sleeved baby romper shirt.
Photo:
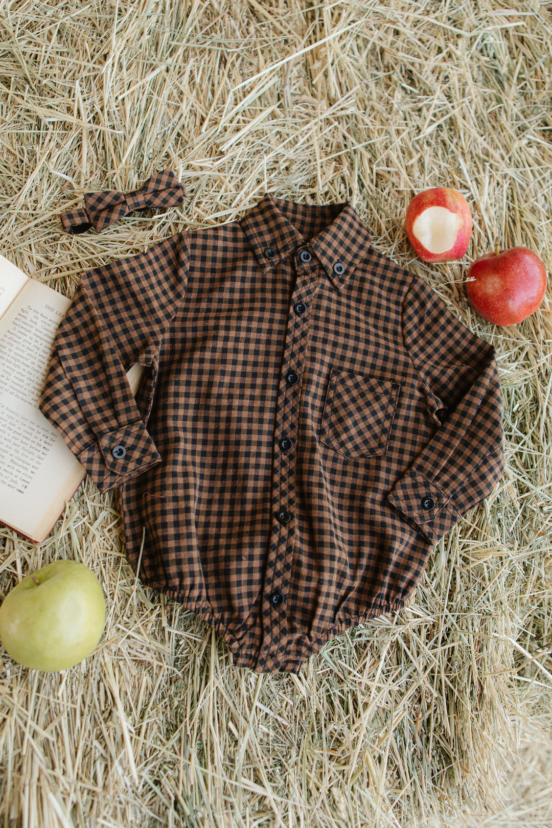
[(142, 581), (257, 672), (400, 608), (502, 475), (491, 345), (370, 239), (265, 195), (85, 273), (55, 339), (41, 410), (121, 487), (132, 566), (145, 531)]

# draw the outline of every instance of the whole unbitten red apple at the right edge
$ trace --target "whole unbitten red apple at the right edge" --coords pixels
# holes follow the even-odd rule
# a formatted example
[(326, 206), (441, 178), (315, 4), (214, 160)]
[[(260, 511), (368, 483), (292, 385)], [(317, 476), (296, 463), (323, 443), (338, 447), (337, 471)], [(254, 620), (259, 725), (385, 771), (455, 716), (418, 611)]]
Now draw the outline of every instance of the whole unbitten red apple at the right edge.
[(468, 301), (495, 325), (516, 325), (540, 306), (546, 290), (546, 271), (529, 248), (485, 253), (466, 274)]

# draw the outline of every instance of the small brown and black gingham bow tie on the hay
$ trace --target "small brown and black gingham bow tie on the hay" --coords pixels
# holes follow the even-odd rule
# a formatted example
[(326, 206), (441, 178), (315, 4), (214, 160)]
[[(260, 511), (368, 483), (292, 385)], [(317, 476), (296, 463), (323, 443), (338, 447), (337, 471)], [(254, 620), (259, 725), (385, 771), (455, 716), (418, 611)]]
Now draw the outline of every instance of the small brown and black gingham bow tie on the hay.
[(132, 193), (118, 193), (117, 190), (86, 193), (84, 209), (66, 210), (61, 214), (61, 224), (67, 233), (85, 233), (91, 227), (100, 233), (104, 227), (136, 210), (169, 209), (181, 205), (185, 195), (175, 173), (163, 170)]

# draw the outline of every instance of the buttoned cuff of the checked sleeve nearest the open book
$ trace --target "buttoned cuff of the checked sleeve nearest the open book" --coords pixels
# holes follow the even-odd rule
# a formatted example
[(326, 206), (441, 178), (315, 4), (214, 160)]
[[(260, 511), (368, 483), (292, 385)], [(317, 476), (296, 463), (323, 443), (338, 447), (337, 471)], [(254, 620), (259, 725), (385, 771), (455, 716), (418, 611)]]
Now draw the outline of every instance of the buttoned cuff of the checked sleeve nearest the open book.
[(79, 455), (80, 463), (101, 492), (132, 480), (161, 460), (142, 421), (101, 436)]

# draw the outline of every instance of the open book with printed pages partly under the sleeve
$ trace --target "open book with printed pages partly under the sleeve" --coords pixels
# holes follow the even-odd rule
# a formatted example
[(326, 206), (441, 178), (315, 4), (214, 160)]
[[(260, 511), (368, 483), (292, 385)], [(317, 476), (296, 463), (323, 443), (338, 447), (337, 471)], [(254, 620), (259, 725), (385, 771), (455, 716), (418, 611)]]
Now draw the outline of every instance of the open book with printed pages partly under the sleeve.
[[(0, 256), (0, 523), (31, 541), (50, 534), (85, 469), (38, 408), (50, 352), (70, 306)], [(127, 378), (136, 394), (143, 368)]]

